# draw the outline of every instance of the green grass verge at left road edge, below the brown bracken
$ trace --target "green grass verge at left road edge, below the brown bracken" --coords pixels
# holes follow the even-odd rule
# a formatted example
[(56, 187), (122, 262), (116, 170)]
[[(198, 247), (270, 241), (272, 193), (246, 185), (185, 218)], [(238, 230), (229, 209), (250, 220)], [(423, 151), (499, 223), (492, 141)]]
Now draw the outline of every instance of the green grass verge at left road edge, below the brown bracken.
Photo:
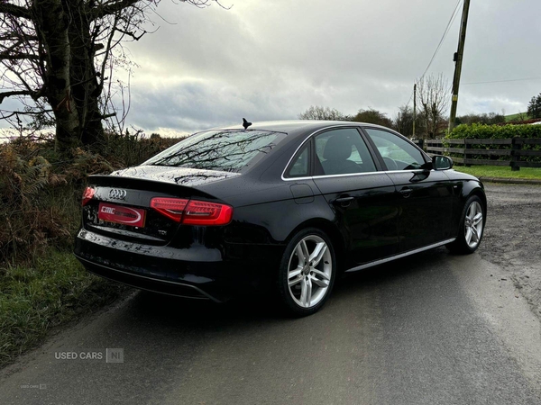
[(70, 251), (0, 268), (0, 366), (37, 347), (50, 329), (115, 301), (126, 287), (87, 273)]

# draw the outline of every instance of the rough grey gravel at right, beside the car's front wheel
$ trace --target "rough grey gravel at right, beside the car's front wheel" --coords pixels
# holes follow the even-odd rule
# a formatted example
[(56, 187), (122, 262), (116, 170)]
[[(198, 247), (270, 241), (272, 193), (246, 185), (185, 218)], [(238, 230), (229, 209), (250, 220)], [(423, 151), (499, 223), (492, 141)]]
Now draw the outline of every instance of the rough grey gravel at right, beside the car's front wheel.
[(488, 216), (481, 257), (509, 279), (541, 317), (541, 186), (486, 183)]

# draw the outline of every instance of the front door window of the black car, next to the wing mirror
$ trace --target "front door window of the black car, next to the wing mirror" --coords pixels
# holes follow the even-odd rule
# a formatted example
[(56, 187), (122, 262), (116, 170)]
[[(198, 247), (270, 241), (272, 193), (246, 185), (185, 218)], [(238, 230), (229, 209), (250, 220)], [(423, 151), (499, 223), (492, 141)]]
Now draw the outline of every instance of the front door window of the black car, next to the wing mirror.
[(421, 152), (394, 133), (373, 129), (366, 129), (366, 132), (380, 151), (388, 170), (411, 170), (425, 164)]

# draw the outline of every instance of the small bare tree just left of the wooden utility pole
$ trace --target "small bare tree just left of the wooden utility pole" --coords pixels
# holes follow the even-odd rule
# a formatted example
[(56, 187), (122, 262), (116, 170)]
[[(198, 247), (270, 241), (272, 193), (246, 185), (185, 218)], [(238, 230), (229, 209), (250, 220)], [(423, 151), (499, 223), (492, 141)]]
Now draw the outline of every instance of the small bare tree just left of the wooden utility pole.
[(443, 74), (423, 76), (417, 80), (417, 105), (425, 121), (426, 138), (434, 139), (443, 128), (449, 108), (451, 86)]

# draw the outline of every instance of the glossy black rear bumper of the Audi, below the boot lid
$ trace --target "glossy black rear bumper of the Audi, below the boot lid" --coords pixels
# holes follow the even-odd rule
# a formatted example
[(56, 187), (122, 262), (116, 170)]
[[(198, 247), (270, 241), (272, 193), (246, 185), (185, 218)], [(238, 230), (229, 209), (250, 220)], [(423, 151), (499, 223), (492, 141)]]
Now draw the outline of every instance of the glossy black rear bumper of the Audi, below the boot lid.
[(96, 275), (142, 290), (225, 302), (258, 290), (278, 270), (281, 246), (188, 248), (126, 242), (87, 229), (75, 238), (75, 256)]

